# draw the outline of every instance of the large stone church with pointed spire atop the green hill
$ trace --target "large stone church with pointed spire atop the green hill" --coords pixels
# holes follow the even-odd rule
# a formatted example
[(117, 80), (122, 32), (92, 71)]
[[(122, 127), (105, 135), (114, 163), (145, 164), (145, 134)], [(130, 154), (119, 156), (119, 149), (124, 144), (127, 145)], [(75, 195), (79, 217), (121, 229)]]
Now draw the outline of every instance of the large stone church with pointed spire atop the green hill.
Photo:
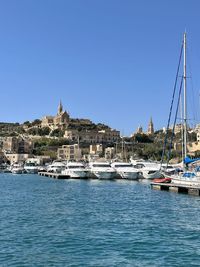
[(69, 114), (63, 111), (63, 106), (60, 101), (56, 116), (45, 116), (42, 118), (42, 127), (50, 127), (51, 129), (64, 128), (69, 125)]

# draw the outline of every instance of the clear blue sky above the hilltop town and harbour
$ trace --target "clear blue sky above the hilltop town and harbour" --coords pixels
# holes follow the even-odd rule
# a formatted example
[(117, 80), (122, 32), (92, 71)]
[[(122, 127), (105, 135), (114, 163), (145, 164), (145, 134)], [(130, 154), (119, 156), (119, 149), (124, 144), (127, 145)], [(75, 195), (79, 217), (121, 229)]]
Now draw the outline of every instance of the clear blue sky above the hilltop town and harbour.
[[(53, 115), (130, 135), (152, 116), (166, 126), (187, 30), (200, 91), (198, 0), (0, 1), (0, 121)], [(197, 99), (198, 97), (196, 97)]]

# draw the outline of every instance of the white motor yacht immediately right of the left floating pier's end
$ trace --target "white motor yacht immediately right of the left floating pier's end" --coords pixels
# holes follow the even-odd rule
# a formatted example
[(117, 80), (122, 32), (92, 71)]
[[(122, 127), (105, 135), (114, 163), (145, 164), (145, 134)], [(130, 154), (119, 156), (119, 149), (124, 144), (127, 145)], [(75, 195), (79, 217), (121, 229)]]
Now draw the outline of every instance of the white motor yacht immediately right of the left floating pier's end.
[(88, 178), (89, 171), (81, 162), (68, 162), (64, 170), (61, 171), (64, 175), (69, 175), (70, 178)]

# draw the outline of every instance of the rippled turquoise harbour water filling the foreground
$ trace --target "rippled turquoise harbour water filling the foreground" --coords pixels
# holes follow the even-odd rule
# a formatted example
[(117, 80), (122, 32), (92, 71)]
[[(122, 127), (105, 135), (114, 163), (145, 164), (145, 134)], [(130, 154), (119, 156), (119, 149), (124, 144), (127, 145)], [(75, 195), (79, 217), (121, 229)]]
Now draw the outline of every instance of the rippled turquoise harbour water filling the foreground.
[(200, 266), (200, 198), (0, 174), (0, 266)]

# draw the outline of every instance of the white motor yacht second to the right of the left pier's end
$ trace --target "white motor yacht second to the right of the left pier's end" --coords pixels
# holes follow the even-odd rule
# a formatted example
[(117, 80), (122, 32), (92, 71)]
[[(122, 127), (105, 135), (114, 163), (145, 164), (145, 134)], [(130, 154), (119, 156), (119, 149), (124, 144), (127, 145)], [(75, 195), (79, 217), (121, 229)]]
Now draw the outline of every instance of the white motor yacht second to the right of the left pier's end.
[(90, 162), (89, 170), (92, 177), (98, 179), (115, 179), (117, 172), (108, 162)]

